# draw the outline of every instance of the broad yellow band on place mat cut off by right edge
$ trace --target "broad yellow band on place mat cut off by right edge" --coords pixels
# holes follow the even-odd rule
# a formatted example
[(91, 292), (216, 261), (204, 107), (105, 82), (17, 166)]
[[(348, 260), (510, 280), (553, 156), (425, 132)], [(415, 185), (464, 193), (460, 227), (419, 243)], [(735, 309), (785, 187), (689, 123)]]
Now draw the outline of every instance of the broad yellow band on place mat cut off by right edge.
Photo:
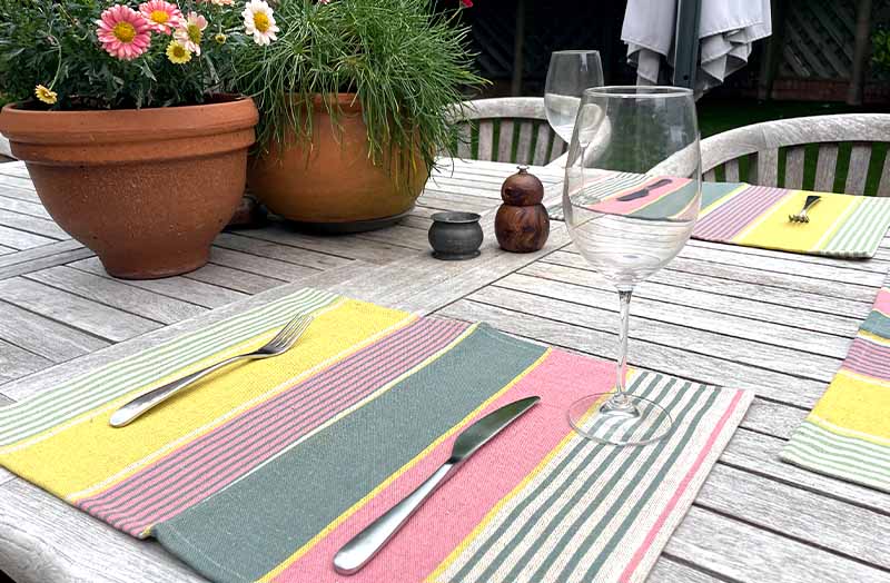
[[(877, 439), (890, 439), (888, 411), (890, 391), (886, 384), (841, 370), (817, 403), (812, 415)], [(874, 443), (883, 445), (879, 441)]]

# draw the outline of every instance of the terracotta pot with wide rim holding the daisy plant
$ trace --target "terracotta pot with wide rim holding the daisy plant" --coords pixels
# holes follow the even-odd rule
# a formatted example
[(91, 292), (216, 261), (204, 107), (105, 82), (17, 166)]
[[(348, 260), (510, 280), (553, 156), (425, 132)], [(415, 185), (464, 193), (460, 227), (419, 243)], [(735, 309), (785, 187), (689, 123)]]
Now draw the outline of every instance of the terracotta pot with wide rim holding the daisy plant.
[(34, 111), (0, 131), (61, 228), (129, 279), (184, 274), (241, 200), (258, 115), (244, 98), (158, 109)]

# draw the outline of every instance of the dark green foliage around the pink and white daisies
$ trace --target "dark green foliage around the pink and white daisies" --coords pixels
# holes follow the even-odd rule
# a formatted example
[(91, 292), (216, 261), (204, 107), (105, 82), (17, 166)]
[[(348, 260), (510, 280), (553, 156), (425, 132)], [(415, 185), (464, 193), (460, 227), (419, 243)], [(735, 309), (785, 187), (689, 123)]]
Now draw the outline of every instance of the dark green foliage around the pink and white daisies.
[[(102, 49), (96, 33), (96, 20), (115, 3), (139, 6), (135, 0), (0, 0), (2, 98), (62, 110), (200, 103), (227, 88), (234, 56), (253, 45), (244, 34), (239, 7), (174, 1), (184, 14), (195, 10), (207, 18), (201, 55), (175, 65), (165, 53), (171, 37), (152, 32), (147, 52), (119, 60)], [(227, 34), (225, 43), (214, 40), (218, 32)], [(55, 90), (58, 102), (33, 100), (38, 85)]]

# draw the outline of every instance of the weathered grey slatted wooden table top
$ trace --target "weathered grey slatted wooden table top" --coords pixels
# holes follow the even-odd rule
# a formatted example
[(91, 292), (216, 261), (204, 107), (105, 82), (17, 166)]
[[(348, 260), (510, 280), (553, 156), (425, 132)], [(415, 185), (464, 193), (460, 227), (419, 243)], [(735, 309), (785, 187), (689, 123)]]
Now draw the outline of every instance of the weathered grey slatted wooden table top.
[[(574, 251), (562, 224), (553, 224), (541, 253), (497, 249), (493, 215), (500, 185), (513, 171), (456, 161), (396, 227), (346, 237), (312, 237), (279, 224), (226, 233), (210, 265), (192, 274), (121, 281), (50, 220), (21, 164), (0, 165), (0, 403), (225, 317), (240, 303), (303, 286), (483, 319), (612, 358), (616, 295)], [(560, 172), (532, 171), (547, 198), (557, 199)], [(438, 209), (484, 215), (479, 258), (429, 257), (428, 217)], [(639, 286), (632, 365), (758, 395), (650, 581), (890, 582), (890, 495), (778, 460), (840, 365), (888, 269), (890, 238), (867, 261), (690, 241)], [(40, 583), (200, 580), (158, 545), (2, 470), (0, 570)]]

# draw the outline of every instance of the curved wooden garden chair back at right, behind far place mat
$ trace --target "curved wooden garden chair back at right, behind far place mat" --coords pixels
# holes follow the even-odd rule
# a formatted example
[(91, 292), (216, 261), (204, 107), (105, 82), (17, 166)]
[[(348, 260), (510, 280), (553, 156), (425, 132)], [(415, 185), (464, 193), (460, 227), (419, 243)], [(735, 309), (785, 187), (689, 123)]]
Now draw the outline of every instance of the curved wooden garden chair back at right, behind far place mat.
[(705, 180), (890, 196), (890, 115), (765, 121), (702, 140)]

